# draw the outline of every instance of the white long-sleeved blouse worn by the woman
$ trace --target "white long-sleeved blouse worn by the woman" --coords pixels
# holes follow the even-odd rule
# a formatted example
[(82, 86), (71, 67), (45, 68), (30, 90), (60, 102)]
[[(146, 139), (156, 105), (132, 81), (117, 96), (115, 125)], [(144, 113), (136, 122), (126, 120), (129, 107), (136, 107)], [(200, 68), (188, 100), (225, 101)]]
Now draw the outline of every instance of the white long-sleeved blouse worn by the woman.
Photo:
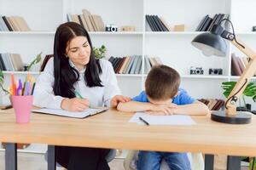
[[(69, 64), (76, 69), (71, 60), (69, 60)], [(100, 59), (100, 65), (102, 66), (100, 79), (103, 87), (87, 87), (84, 82), (85, 69), (79, 71), (80, 79), (78, 82), (74, 83), (73, 87), (79, 91), (79, 94), (81, 94), (84, 99), (89, 99), (90, 105), (109, 106), (113, 96), (121, 94), (121, 92), (111, 63), (106, 59)], [(53, 59), (49, 59), (44, 68), (44, 72), (38, 77), (33, 94), (33, 105), (50, 109), (61, 109), (61, 100), (65, 98), (54, 94), (54, 80), (54, 61)]]

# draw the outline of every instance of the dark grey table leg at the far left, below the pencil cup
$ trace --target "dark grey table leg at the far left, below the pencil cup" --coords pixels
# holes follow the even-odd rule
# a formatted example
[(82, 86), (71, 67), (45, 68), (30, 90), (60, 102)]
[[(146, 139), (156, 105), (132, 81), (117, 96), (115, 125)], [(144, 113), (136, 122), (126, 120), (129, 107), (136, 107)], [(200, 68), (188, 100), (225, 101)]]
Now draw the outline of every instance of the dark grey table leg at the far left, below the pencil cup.
[(17, 170), (17, 144), (5, 144), (5, 169)]

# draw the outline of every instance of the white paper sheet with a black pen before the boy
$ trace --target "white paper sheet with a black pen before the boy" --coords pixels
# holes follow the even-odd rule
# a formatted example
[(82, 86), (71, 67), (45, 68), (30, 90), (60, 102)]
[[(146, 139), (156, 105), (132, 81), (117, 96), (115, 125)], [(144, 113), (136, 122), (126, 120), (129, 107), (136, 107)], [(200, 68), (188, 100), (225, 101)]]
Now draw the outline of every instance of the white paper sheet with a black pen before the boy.
[(154, 116), (148, 115), (144, 112), (137, 112), (131, 117), (129, 122), (137, 122), (137, 124), (144, 124), (139, 120), (141, 116), (149, 125), (195, 125), (195, 121), (190, 116), (187, 115), (172, 115), (172, 116)]

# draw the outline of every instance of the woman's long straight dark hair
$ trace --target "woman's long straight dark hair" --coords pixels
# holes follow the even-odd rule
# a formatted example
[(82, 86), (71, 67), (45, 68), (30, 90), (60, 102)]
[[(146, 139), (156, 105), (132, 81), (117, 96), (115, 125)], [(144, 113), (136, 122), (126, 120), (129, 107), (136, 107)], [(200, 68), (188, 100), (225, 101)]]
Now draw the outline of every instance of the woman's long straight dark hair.
[(66, 57), (67, 44), (73, 37), (84, 36), (90, 44), (90, 61), (84, 72), (84, 82), (88, 87), (102, 87), (99, 74), (102, 74), (102, 67), (93, 54), (92, 44), (88, 32), (83, 26), (75, 22), (61, 24), (55, 32), (54, 44), (54, 93), (62, 97), (75, 97), (73, 84), (79, 81), (79, 71), (69, 65)]

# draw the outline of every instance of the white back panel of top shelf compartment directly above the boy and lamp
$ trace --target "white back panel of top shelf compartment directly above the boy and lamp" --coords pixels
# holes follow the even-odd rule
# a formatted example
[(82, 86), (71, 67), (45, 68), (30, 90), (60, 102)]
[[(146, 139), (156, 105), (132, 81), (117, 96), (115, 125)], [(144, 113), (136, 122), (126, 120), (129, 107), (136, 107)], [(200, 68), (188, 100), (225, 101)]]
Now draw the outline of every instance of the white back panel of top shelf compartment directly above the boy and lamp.
[(229, 1), (223, 0), (146, 0), (145, 14), (157, 14), (174, 25), (184, 24), (185, 31), (195, 31), (202, 18), (209, 14), (230, 13)]

